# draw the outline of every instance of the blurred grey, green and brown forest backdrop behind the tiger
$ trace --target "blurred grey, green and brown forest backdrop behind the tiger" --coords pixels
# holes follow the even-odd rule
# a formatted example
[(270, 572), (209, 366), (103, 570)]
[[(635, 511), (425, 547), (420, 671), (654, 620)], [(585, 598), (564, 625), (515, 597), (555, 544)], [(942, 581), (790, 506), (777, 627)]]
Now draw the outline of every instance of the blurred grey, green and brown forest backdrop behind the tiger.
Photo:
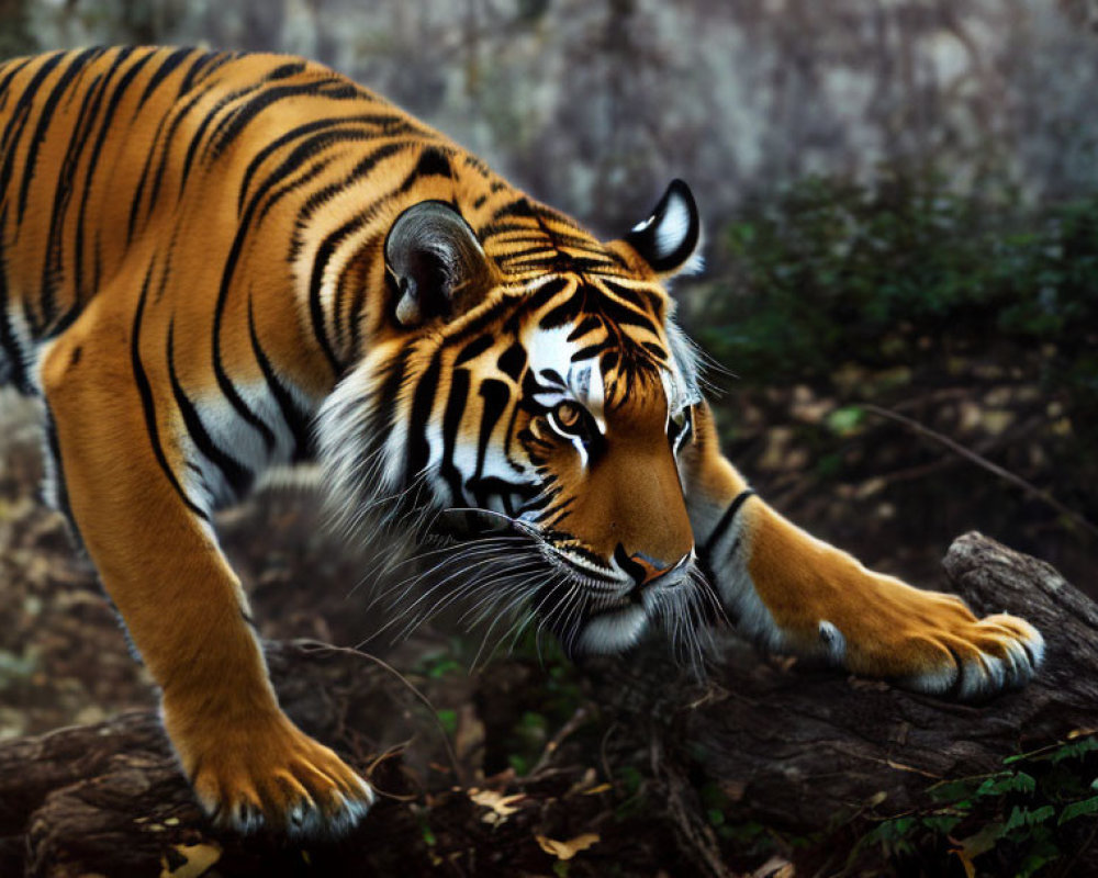
[(93, 43), (320, 59), (607, 236), (685, 178), (757, 486), (923, 585), (976, 528), (1095, 593), (1098, 3), (0, 0), (0, 57)]

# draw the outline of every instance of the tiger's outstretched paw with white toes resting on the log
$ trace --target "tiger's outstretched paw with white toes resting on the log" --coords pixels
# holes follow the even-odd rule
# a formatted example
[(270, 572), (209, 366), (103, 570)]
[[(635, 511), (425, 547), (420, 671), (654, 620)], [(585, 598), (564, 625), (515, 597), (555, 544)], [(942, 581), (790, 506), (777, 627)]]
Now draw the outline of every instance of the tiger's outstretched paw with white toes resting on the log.
[[(945, 596), (941, 596), (945, 597)], [(885, 644), (887, 657), (853, 669), (889, 676), (909, 689), (957, 700), (986, 698), (1024, 686), (1044, 657), (1044, 638), (1024, 619), (1007, 614), (976, 619), (960, 600), (946, 621), (908, 628)], [(826, 624), (826, 623), (825, 623)], [(821, 638), (826, 639), (821, 624)], [(854, 664), (854, 663), (852, 663)]]

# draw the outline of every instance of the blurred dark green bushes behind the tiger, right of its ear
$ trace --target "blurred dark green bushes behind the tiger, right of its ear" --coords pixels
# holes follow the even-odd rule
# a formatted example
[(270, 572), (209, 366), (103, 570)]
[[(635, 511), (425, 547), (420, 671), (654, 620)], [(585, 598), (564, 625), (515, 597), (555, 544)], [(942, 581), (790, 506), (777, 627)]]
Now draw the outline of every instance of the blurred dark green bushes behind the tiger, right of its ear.
[(1098, 193), (1023, 206), (932, 173), (809, 178), (748, 205), (725, 243), (697, 335), (749, 383), (826, 385), (848, 362), (912, 381), (995, 350), (1098, 410)]

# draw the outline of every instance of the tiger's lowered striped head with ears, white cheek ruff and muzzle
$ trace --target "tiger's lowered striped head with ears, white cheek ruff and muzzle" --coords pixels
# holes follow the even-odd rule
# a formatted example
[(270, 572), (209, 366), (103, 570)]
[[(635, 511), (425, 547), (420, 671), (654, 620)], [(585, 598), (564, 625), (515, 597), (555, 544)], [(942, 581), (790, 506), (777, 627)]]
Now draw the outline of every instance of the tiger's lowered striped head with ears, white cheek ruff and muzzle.
[(317, 435), (346, 521), (460, 539), (433, 605), (528, 607), (572, 654), (653, 620), (691, 635), (709, 597), (677, 457), (701, 393), (663, 283), (699, 235), (679, 180), (609, 244), (525, 199), (479, 233), (438, 201), (393, 222), (389, 325)]

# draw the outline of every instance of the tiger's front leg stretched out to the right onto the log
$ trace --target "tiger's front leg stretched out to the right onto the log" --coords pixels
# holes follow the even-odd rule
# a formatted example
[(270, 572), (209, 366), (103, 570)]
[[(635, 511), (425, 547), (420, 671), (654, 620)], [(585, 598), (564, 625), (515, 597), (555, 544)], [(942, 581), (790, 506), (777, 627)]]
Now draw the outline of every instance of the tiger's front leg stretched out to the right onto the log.
[(961, 598), (866, 570), (783, 518), (721, 455), (705, 405), (680, 469), (699, 554), (757, 641), (959, 698), (1022, 685), (1040, 665), (1044, 641), (1023, 619), (977, 619)]

